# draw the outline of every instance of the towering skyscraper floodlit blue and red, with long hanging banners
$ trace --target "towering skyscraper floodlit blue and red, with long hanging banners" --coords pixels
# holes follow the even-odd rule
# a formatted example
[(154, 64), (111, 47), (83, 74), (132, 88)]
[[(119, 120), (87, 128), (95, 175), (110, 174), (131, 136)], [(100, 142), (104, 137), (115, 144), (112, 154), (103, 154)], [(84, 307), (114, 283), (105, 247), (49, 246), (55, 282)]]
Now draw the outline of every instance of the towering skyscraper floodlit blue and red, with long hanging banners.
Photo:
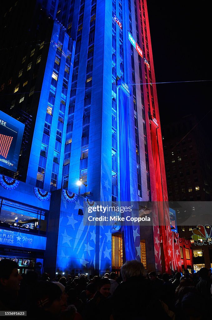
[[(179, 269), (161, 205), (168, 197), (146, 1), (16, 1), (4, 26), (1, 110), (26, 133), (18, 171), (1, 173), (41, 200), (51, 192), (45, 270), (103, 273), (131, 259)], [(159, 204), (153, 226), (84, 225), (83, 204), (99, 201)]]

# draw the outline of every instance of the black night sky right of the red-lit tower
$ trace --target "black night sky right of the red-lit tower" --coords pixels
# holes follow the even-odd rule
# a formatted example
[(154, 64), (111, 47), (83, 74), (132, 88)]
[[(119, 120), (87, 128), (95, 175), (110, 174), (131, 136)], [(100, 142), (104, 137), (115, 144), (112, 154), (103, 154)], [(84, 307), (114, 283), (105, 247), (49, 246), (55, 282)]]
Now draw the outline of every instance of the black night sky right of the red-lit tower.
[[(147, 8), (156, 82), (211, 80), (209, 4), (147, 0)], [(161, 127), (191, 113), (202, 118), (212, 108), (211, 92), (212, 81), (157, 84)]]

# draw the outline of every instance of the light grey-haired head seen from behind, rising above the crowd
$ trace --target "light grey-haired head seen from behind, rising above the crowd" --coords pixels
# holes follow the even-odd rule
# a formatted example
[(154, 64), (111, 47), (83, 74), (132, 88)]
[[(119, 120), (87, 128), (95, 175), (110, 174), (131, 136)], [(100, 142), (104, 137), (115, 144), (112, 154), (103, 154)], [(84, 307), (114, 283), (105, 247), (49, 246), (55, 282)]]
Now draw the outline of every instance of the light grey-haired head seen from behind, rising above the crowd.
[(127, 281), (131, 277), (146, 276), (143, 263), (138, 260), (126, 261), (121, 267), (121, 275), (123, 281)]

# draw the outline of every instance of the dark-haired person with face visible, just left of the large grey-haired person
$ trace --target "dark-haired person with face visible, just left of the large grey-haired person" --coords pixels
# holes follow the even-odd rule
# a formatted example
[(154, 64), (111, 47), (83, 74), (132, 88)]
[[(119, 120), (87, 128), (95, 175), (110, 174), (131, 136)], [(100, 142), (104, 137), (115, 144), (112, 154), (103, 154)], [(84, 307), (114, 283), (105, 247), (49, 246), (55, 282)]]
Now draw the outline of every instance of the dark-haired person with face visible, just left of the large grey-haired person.
[(85, 320), (109, 320), (111, 315), (110, 300), (110, 280), (107, 277), (98, 281), (97, 292), (90, 299), (83, 310), (82, 317)]

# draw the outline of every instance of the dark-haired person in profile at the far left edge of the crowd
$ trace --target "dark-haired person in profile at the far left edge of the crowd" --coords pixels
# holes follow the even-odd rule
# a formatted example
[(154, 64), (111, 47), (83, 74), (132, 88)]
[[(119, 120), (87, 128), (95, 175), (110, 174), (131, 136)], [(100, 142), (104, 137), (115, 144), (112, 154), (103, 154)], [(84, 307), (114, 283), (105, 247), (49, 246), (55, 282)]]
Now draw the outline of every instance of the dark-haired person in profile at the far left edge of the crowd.
[(10, 259), (0, 261), (0, 310), (20, 310), (18, 295), (22, 276), (18, 264)]

